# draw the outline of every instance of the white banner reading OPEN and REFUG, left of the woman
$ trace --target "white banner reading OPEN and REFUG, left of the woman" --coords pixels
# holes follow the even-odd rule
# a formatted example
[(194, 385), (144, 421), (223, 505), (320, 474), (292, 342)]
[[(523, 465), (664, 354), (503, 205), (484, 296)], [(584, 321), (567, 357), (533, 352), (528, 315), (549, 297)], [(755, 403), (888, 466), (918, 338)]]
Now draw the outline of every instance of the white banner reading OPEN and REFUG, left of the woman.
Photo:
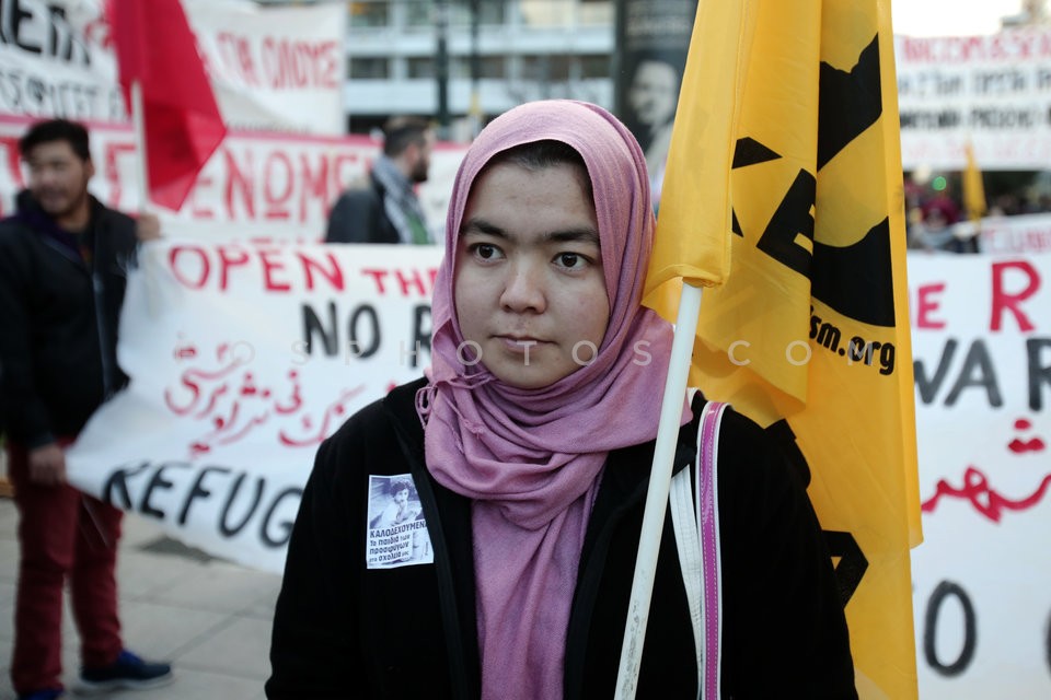
[(280, 572), (317, 445), (430, 361), (441, 249), (164, 240), (140, 255), (118, 350), (131, 383), (70, 451), (70, 479)]

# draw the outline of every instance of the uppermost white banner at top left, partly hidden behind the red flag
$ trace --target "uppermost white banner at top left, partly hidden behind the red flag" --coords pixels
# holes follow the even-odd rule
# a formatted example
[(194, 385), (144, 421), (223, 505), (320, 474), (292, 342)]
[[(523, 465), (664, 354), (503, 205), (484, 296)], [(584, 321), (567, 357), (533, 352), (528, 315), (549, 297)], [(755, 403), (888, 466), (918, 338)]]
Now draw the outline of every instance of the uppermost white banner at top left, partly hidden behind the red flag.
[[(0, 115), (127, 122), (102, 0), (0, 0)], [(185, 0), (223, 120), (339, 135), (346, 7)]]

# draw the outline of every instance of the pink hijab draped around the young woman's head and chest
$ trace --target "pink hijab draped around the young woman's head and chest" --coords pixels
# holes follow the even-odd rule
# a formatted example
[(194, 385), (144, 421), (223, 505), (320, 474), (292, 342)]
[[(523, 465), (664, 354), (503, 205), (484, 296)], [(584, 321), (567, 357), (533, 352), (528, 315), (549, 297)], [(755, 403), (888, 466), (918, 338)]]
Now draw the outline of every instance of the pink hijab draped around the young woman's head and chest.
[[(541, 389), (465, 366), (453, 300), (457, 237), (472, 183), (497, 153), (562, 141), (587, 165), (610, 322), (596, 360)], [(472, 499), (483, 698), (561, 698), (569, 606), (610, 451), (657, 435), (671, 326), (639, 305), (654, 236), (643, 152), (616, 118), (570, 101), (493, 120), (457, 173), (438, 271), (430, 382), (417, 397), (427, 467)], [(684, 420), (690, 419), (689, 408)]]

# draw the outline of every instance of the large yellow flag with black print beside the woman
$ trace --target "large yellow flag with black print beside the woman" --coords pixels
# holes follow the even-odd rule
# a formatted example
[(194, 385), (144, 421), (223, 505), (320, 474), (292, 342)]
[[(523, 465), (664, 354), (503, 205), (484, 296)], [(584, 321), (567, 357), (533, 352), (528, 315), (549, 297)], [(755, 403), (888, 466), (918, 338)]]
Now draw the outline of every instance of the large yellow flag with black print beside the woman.
[[(738, 107), (702, 79), (727, 45), (702, 18), (727, 4), (753, 18)], [(700, 0), (647, 289), (670, 259), (711, 259), (720, 241), (707, 236), (730, 240), (725, 282), (702, 298), (691, 383), (789, 450), (795, 434), (858, 691), (897, 700), (917, 693), (909, 549), (921, 533), (896, 90), (887, 0)], [(714, 105), (738, 109), (721, 231), (697, 225), (720, 211), (703, 197), (720, 180), (692, 172), (718, 144), (680, 138)], [(670, 299), (648, 302), (674, 319)]]

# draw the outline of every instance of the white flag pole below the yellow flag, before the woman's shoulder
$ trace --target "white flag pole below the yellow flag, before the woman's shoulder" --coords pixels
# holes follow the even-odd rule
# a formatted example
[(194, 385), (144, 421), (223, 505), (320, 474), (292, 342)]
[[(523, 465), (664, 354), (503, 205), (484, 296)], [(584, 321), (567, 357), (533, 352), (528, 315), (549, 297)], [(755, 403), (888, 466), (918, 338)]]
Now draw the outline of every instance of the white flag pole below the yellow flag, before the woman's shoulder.
[(682, 284), (679, 299), (679, 316), (675, 336), (671, 345), (668, 378), (657, 424), (657, 446), (654, 466), (646, 492), (646, 510), (643, 512), (643, 529), (638, 538), (638, 556), (635, 560), (635, 578), (632, 581), (632, 597), (627, 607), (624, 643), (621, 646), (621, 666), (616, 676), (615, 700), (635, 698), (638, 669), (643, 658), (643, 642), (649, 622), (649, 600), (654, 593), (654, 575), (657, 572), (657, 553), (668, 508), (668, 491), (671, 483), (672, 462), (679, 442), (679, 423), (686, 395), (686, 380), (693, 355), (693, 337), (701, 313), (701, 288), (688, 282)]

